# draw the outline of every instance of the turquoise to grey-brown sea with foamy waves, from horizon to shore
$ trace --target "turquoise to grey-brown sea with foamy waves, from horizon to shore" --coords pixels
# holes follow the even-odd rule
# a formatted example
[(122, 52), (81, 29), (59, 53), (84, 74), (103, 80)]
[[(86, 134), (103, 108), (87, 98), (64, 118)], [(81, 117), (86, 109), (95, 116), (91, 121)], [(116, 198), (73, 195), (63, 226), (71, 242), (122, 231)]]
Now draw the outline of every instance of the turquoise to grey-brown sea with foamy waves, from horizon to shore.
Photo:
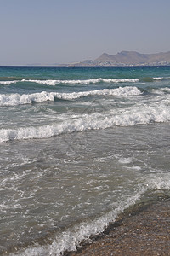
[(0, 255), (76, 251), (170, 197), (170, 67), (0, 67)]

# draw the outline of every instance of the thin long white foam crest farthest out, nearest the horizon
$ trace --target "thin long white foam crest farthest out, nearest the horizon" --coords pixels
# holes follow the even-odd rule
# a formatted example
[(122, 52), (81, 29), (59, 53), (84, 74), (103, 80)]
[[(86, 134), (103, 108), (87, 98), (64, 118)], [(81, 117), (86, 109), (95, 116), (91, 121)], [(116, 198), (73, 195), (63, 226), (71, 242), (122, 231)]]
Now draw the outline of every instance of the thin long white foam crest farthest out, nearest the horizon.
[(55, 85), (55, 84), (97, 84), (100, 82), (104, 83), (136, 83), (139, 82), (139, 79), (77, 79), (77, 80), (54, 80), (54, 79), (47, 79), (47, 80), (37, 80), (37, 79), (22, 79), (24, 82), (31, 82), (37, 84), (47, 84), (47, 85)]

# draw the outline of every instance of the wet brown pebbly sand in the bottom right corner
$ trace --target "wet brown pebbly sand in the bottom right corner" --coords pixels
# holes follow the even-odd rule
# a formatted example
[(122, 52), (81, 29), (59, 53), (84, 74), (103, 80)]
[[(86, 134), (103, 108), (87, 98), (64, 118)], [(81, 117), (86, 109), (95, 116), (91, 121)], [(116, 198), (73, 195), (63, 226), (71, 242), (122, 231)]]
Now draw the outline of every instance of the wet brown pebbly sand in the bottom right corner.
[(126, 212), (104, 234), (67, 255), (170, 255), (170, 201)]

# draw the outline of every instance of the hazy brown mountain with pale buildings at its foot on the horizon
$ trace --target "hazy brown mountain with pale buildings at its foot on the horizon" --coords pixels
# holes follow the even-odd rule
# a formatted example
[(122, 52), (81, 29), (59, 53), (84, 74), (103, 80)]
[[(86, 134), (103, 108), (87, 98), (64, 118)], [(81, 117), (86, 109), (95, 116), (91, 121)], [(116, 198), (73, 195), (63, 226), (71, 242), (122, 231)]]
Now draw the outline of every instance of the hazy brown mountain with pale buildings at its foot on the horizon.
[(136, 51), (122, 51), (116, 55), (106, 53), (99, 58), (74, 63), (71, 66), (167, 66), (170, 65), (170, 51), (156, 54), (140, 54)]

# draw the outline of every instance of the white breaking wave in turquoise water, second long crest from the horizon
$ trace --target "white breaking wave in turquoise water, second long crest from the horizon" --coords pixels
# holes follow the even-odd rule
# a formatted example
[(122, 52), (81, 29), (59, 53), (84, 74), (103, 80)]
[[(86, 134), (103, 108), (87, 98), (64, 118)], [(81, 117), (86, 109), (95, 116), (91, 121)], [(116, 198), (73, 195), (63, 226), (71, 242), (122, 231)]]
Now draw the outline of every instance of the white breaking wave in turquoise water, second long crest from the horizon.
[(32, 102), (54, 102), (55, 98), (73, 100), (84, 96), (135, 96), (141, 94), (137, 87), (119, 87), (116, 89), (88, 90), (71, 93), (47, 92), (33, 94), (2, 94), (0, 95), (0, 106), (16, 106), (31, 104)]

